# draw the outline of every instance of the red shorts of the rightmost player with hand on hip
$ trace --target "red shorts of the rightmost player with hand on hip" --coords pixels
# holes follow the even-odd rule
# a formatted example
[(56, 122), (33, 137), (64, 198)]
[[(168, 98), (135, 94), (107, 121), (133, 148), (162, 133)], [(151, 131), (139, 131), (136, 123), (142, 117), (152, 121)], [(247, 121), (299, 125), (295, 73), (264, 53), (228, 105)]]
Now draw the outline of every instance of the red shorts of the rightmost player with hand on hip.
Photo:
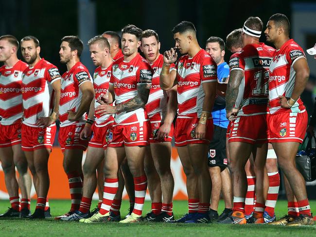
[(307, 112), (269, 115), (270, 142), (302, 143), (307, 128)]

